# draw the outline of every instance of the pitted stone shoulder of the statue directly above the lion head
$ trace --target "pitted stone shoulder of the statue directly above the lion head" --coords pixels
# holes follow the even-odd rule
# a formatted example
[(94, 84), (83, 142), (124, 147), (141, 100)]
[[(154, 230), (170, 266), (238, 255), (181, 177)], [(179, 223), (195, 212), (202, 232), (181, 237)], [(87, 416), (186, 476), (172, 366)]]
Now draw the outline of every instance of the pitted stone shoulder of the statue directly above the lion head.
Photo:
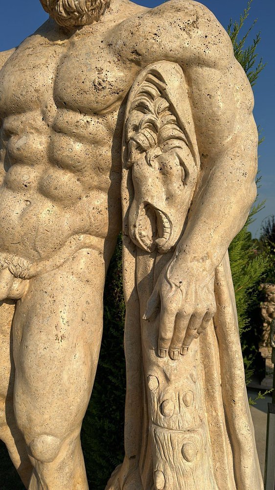
[(234, 58), (228, 33), (197, 1), (169, 0), (122, 24), (120, 43), (135, 44), (145, 63), (165, 59), (219, 68)]

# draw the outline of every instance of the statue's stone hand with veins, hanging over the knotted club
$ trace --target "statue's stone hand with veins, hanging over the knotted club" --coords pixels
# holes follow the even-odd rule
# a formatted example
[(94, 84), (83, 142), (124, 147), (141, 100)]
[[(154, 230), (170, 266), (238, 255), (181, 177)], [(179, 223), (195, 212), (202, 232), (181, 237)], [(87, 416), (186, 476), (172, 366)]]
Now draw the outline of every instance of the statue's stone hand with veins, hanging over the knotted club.
[(186, 263), (178, 256), (162, 270), (143, 319), (160, 312), (158, 354), (173, 360), (187, 354), (192, 340), (206, 329), (216, 312), (214, 266)]

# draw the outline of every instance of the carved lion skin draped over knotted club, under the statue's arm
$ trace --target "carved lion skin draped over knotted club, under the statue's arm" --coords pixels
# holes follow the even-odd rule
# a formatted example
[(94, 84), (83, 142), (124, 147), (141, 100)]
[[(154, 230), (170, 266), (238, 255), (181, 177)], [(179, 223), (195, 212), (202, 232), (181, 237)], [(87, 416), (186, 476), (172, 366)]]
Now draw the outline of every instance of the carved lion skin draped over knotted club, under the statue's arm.
[[(126, 105), (121, 184), (125, 458), (106, 490), (248, 489), (244, 482), (251, 474), (257, 481), (259, 474), (251, 457), (252, 434), (240, 437), (252, 422), (228, 254), (215, 271), (214, 325), (211, 320), (188, 355), (176, 361), (162, 357), (161, 315), (156, 312), (149, 321), (144, 316), (162, 270), (177, 256), (176, 246), (197, 213), (192, 199), (203, 187), (191, 100), (181, 67), (161, 61), (138, 74)], [(242, 438), (250, 448), (246, 467), (234, 457)]]

